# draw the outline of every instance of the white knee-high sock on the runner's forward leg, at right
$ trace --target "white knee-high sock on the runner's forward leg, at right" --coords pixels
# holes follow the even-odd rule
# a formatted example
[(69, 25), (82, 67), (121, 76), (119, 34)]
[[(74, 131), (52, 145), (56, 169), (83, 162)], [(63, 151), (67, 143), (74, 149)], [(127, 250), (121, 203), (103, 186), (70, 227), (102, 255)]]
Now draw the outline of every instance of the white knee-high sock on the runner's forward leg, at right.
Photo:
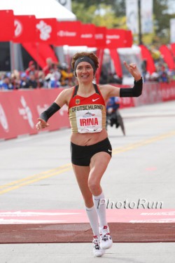
[(106, 201), (104, 198), (104, 193), (99, 196), (93, 196), (94, 207), (99, 216), (99, 227), (104, 227), (107, 225), (106, 222)]

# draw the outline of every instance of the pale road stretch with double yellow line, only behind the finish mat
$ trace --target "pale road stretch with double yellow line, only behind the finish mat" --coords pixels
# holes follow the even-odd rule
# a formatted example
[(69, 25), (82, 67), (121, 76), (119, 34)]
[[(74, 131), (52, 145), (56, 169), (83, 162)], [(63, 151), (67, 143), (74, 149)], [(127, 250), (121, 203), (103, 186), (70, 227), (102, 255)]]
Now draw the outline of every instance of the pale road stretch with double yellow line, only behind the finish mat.
[[(175, 103), (120, 113), (126, 136), (109, 127), (113, 158), (102, 179), (106, 198), (115, 203), (161, 201), (162, 208), (174, 208)], [(70, 133), (58, 130), (0, 142), (0, 210), (83, 209), (71, 169)]]

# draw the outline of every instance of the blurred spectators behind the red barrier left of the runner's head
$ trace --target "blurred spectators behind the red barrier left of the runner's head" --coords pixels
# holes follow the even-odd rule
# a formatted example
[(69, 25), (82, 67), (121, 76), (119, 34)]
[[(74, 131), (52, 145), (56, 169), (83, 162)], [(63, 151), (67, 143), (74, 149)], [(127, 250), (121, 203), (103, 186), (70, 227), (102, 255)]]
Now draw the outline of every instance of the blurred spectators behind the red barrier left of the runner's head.
[(14, 70), (13, 72), (0, 73), (0, 90), (18, 90), (20, 88), (59, 88), (60, 86), (73, 86), (75, 77), (69, 72), (66, 63), (46, 60), (42, 70), (37, 69), (33, 60), (25, 72)]

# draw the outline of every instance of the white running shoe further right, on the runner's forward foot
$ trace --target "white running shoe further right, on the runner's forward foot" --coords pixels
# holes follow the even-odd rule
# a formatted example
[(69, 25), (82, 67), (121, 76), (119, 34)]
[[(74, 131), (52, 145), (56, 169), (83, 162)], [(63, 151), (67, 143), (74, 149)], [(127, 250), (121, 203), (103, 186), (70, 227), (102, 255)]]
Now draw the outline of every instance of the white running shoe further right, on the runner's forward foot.
[(110, 236), (109, 226), (104, 226), (99, 229), (101, 240), (100, 240), (100, 248), (102, 250), (106, 250), (111, 248), (113, 245), (113, 240)]

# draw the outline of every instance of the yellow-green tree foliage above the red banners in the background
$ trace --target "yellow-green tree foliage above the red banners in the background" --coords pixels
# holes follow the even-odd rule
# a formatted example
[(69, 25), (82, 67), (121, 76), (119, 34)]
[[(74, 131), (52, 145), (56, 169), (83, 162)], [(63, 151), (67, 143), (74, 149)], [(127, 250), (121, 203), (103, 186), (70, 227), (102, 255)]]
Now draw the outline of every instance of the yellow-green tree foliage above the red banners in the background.
[[(143, 36), (144, 43), (169, 43), (168, 0), (153, 1), (153, 34)], [(125, 1), (123, 0), (72, 0), (72, 11), (83, 23), (108, 28), (127, 29)]]

